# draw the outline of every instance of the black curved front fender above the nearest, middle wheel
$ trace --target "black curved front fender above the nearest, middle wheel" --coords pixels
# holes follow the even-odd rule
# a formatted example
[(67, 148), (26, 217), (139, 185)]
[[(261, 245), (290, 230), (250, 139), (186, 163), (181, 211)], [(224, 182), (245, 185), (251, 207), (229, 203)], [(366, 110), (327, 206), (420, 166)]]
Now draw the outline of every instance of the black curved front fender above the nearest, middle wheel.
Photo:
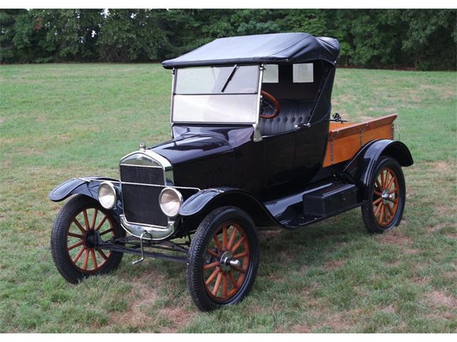
[(192, 195), (181, 205), (181, 217), (203, 217), (212, 210), (231, 205), (246, 211), (257, 226), (279, 224), (268, 209), (248, 192), (231, 187), (206, 189)]

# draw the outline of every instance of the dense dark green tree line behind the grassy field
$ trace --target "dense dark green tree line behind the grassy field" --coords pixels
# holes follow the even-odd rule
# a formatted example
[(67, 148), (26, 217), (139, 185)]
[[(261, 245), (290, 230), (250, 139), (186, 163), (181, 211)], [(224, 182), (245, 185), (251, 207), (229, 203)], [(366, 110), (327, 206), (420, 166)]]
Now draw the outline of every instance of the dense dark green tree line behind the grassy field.
[(308, 32), (340, 66), (456, 70), (455, 9), (2, 9), (0, 63), (162, 61), (224, 36)]

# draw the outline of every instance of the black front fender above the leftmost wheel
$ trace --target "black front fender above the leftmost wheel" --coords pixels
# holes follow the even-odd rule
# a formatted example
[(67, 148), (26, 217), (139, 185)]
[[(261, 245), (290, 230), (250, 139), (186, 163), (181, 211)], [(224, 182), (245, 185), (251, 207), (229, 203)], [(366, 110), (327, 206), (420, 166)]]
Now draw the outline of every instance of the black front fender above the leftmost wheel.
[(106, 177), (79, 177), (66, 180), (49, 192), (49, 199), (53, 202), (61, 202), (74, 194), (81, 194), (99, 200), (99, 186), (101, 182), (114, 182), (114, 186), (120, 190), (119, 180)]

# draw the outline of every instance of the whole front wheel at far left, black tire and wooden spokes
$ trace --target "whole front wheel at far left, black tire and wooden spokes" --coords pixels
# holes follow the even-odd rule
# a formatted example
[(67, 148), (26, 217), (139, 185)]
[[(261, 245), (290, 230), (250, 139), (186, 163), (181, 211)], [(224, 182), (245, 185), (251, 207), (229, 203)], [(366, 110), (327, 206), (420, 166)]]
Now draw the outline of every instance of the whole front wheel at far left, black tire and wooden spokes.
[(76, 283), (93, 274), (107, 274), (121, 262), (122, 253), (96, 248), (97, 241), (124, 236), (113, 214), (91, 197), (77, 195), (57, 214), (51, 252), (64, 278)]

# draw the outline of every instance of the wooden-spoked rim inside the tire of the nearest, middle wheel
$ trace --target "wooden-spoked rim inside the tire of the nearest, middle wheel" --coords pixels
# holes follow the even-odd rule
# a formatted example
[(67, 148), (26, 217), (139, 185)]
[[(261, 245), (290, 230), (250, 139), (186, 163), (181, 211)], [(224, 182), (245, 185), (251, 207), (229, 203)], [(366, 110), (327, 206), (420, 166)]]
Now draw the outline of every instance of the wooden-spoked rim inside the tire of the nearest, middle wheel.
[(249, 244), (236, 222), (223, 224), (206, 247), (204, 283), (212, 299), (224, 302), (241, 289), (249, 266)]

